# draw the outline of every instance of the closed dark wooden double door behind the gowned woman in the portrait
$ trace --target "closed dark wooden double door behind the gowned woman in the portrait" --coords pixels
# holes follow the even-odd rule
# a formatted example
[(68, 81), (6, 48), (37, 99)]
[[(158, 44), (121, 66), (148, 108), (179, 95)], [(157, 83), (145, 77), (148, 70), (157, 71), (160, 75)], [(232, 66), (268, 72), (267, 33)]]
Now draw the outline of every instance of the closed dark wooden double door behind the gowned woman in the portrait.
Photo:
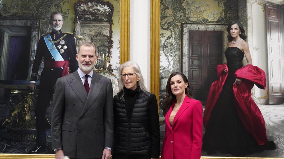
[(189, 31), (188, 80), (193, 98), (205, 102), (222, 63), (222, 32)]

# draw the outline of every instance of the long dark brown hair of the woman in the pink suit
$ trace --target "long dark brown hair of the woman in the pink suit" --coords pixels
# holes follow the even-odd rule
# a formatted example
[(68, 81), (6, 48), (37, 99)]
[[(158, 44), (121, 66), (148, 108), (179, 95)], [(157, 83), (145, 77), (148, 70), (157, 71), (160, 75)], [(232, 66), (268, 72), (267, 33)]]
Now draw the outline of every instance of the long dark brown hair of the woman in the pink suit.
[(185, 89), (185, 94), (191, 98), (192, 96), (192, 92), (190, 91), (190, 88), (189, 88), (189, 82), (188, 82), (188, 79), (186, 78), (186, 76), (181, 73), (181, 72), (173, 72), (170, 77), (168, 78), (168, 81), (167, 81), (167, 86), (166, 86), (166, 96), (165, 98), (162, 100), (162, 103), (161, 103), (161, 108), (163, 110), (163, 114), (164, 116), (167, 114), (167, 112), (169, 111), (172, 103), (176, 100), (175, 98), (175, 95), (172, 93), (172, 90), (171, 90), (171, 79), (172, 77), (174, 77), (175, 75), (180, 75), (183, 79), (183, 81), (185, 83), (187, 83), (187, 88)]

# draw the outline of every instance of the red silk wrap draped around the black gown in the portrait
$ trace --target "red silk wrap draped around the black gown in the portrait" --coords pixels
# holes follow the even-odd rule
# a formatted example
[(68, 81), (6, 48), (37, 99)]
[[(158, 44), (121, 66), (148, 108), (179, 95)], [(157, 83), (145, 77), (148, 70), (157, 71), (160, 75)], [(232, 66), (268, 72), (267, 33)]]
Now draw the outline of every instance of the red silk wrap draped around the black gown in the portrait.
[[(207, 127), (211, 111), (219, 98), (227, 78), (227, 74), (222, 74), (224, 68), (226, 68), (227, 71), (230, 71), (227, 68), (227, 64), (218, 65), (216, 68), (219, 79), (213, 82), (210, 87), (204, 110), (203, 123), (205, 128)], [(267, 143), (265, 121), (258, 106), (251, 98), (251, 89), (254, 84), (256, 84), (258, 88), (265, 89), (265, 72), (259, 67), (249, 64), (239, 68), (235, 72), (235, 76), (236, 78), (242, 79), (242, 82), (239, 85), (234, 84), (232, 86), (236, 102), (236, 111), (239, 114), (240, 120), (242, 121), (245, 129), (254, 137), (259, 145), (264, 145)]]

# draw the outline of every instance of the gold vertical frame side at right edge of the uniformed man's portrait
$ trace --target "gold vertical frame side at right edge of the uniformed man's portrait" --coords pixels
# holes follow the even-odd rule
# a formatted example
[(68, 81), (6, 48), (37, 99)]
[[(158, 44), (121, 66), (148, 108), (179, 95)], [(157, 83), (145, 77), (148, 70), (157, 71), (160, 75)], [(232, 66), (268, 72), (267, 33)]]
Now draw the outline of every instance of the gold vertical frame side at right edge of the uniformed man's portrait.
[(120, 64), (129, 61), (130, 0), (120, 0)]

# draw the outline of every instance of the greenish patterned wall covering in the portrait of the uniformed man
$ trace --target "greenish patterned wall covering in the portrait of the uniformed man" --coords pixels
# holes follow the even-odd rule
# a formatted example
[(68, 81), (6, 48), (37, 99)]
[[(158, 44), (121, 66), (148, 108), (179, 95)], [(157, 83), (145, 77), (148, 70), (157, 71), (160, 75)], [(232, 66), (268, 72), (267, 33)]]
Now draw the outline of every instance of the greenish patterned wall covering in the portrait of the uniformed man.
[[(39, 19), (40, 35), (51, 31), (49, 26), (49, 16), (52, 12), (59, 11), (64, 17), (62, 31), (73, 32), (74, 30), (74, 4), (78, 0), (0, 0), (3, 1), (3, 7), (0, 10), (0, 18), (9, 19)], [(111, 64), (114, 68), (114, 74), (117, 74), (119, 66), (119, 16), (120, 0), (103, 0), (109, 1), (114, 6), (113, 14), (113, 48)], [(42, 67), (42, 66), (41, 66)]]

